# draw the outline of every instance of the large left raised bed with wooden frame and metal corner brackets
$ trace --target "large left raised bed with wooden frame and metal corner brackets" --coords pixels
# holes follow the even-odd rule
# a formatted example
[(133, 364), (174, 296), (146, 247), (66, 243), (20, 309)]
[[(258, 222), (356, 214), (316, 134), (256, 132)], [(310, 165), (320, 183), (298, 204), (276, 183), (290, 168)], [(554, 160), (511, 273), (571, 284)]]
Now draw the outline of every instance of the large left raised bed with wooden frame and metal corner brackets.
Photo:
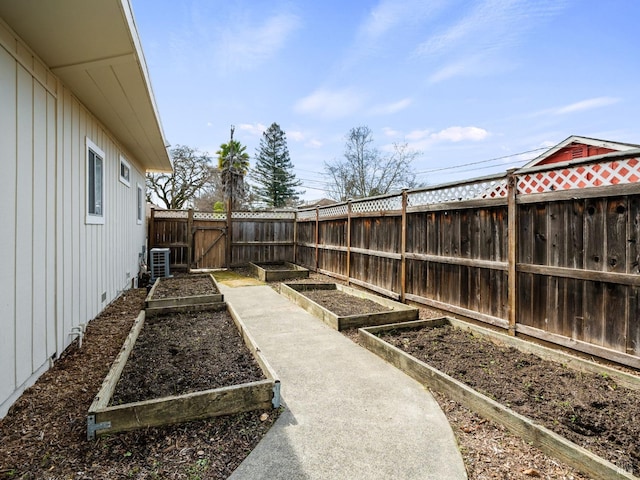
[[(143, 329), (145, 317), (140, 312), (89, 408), (89, 439), (96, 434), (280, 406), (280, 382), (231, 307), (228, 312), (159, 316)], [(140, 352), (132, 356), (140, 335), (144, 338)], [(211, 341), (211, 335), (216, 335), (217, 342)], [(149, 344), (153, 348), (145, 352)], [(208, 348), (203, 349), (202, 344)], [(247, 356), (255, 361), (253, 365), (248, 365), (252, 362)], [(178, 365), (165, 368), (176, 361)], [(225, 367), (220, 369), (218, 363)], [(246, 368), (238, 368), (238, 363)], [(210, 375), (214, 367), (220, 371)], [(153, 398), (156, 394), (160, 396)]]

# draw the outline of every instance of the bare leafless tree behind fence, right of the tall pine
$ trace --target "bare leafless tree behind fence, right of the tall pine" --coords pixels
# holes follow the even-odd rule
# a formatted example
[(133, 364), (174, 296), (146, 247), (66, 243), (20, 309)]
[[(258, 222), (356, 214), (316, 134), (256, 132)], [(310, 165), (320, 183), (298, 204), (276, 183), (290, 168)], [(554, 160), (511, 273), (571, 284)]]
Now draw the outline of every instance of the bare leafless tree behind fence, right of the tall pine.
[(344, 158), (325, 162), (329, 196), (344, 201), (414, 187), (412, 162), (419, 155), (407, 143), (395, 143), (393, 152), (383, 155), (374, 147), (369, 127), (352, 128), (346, 137)]

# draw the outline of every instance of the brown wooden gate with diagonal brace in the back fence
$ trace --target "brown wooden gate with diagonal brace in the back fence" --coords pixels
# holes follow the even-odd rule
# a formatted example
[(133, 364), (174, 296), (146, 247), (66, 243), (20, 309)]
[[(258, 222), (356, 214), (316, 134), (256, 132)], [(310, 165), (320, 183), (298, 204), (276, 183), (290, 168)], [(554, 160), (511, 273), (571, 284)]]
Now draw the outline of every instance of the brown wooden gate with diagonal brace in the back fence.
[(226, 252), (225, 220), (193, 220), (191, 268), (223, 268)]

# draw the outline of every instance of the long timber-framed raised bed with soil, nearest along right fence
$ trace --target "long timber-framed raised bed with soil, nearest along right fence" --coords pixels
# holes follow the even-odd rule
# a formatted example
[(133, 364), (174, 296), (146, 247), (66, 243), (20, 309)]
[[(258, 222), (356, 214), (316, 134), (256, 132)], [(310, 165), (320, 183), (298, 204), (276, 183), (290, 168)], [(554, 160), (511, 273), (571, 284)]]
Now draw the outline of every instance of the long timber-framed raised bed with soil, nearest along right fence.
[(450, 318), (360, 329), (360, 343), (592, 478), (640, 473), (640, 377)]

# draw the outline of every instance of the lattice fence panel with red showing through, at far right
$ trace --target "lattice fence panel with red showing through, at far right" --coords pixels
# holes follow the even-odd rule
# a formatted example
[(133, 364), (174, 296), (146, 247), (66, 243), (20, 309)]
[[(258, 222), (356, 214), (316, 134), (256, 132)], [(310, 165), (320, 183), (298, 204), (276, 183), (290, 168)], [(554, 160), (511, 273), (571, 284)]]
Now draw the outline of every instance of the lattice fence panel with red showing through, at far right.
[(640, 181), (640, 160), (628, 158), (613, 162), (577, 165), (559, 170), (523, 174), (518, 193), (545, 193), (555, 190), (604, 187)]

